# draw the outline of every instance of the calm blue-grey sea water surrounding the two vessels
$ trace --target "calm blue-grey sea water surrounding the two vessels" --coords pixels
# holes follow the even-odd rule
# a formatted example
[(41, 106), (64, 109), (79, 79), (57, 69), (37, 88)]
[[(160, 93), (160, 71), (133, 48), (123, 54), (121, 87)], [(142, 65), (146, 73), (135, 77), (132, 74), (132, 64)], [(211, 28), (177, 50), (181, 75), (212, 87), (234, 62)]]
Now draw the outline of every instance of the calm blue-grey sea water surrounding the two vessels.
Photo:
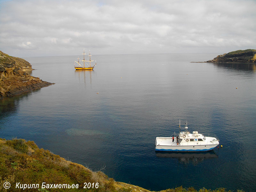
[[(75, 71), (77, 56), (25, 58), (56, 84), (0, 100), (0, 137), (150, 190), (256, 191), (256, 66), (190, 63), (216, 55), (95, 55), (94, 71)], [(178, 132), (179, 119), (223, 148), (156, 153), (156, 137)]]

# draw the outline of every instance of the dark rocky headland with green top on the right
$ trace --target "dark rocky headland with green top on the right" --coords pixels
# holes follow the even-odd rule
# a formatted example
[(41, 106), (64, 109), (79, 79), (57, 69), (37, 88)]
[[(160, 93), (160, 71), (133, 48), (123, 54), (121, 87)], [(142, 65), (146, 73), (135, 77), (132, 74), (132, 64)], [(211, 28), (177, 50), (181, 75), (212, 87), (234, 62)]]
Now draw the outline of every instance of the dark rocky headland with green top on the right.
[(218, 55), (213, 60), (205, 61), (212, 63), (256, 63), (256, 50), (237, 50), (223, 55)]

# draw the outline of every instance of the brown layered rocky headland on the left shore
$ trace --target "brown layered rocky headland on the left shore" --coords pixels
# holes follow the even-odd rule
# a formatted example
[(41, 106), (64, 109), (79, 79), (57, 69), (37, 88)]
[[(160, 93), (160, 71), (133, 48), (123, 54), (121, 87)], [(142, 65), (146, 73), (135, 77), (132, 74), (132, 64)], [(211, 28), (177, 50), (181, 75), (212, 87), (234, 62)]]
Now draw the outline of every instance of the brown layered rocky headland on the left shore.
[(0, 99), (54, 84), (30, 76), (31, 70), (28, 61), (0, 51)]

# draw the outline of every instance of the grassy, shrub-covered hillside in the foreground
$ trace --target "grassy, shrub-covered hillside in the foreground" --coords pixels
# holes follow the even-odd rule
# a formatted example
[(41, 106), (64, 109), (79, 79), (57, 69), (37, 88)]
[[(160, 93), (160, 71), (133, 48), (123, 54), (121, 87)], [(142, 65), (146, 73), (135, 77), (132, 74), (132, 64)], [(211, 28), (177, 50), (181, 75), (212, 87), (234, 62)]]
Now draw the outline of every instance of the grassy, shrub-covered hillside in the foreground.
[[(9, 182), (11, 187), (5, 189), (4, 183)], [(41, 188), (46, 184), (77, 184), (78, 188)], [(94, 188), (84, 188), (84, 182), (94, 183)], [(39, 188), (15, 188), (16, 183), (39, 184)], [(98, 183), (96, 188), (96, 183)], [(46, 185), (45, 184), (45, 185)], [(39, 149), (34, 141), (23, 139), (0, 139), (0, 191), (98, 191), (98, 192), (149, 192), (131, 184), (116, 182), (108, 178), (103, 172), (92, 172), (83, 165), (72, 163), (54, 155), (43, 148)], [(211, 192), (200, 189), (198, 192)], [(212, 192), (225, 192), (224, 188)], [(238, 190), (239, 191), (239, 190)], [(194, 188), (167, 189), (162, 192), (197, 192)], [(242, 192), (242, 191), (239, 191)]]

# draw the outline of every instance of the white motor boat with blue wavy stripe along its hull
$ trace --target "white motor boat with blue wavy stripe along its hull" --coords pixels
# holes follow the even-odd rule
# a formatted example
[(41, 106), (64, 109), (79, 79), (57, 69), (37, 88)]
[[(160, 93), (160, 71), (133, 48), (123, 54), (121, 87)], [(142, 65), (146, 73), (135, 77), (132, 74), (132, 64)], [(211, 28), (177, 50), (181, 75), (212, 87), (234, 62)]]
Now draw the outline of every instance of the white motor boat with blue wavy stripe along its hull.
[[(201, 134), (188, 131), (188, 122), (181, 128), (178, 135), (174, 132), (171, 137), (156, 137), (156, 151), (209, 151), (219, 145), (215, 134)], [(181, 132), (181, 129), (185, 131)]]

